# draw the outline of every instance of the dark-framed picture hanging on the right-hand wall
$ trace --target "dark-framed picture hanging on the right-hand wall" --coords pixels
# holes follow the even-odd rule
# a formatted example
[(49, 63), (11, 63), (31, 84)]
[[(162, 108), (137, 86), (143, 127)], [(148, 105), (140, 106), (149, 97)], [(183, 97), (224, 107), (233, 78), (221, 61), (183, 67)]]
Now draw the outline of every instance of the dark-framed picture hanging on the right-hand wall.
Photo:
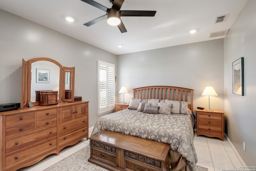
[(232, 63), (233, 94), (244, 96), (244, 57)]

